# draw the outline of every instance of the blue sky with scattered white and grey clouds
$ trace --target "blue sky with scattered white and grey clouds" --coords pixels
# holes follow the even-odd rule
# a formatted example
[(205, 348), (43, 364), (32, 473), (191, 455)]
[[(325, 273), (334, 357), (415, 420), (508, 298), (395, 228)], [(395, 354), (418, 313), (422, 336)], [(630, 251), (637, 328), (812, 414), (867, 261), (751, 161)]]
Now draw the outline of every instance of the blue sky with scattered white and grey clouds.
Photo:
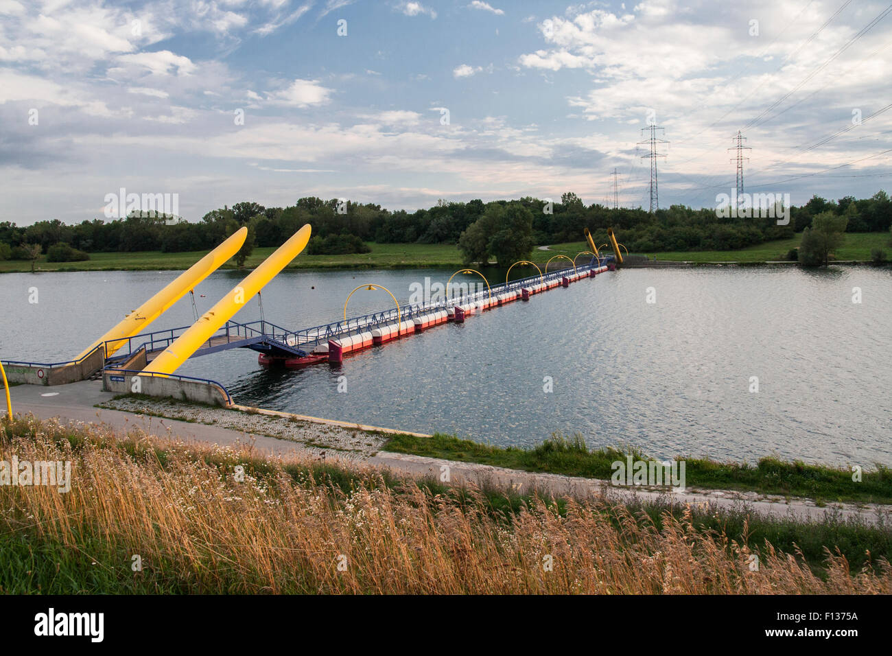
[[(890, 186), (892, 5), (0, 0), (0, 220)], [(665, 156), (663, 156), (665, 155)], [(616, 176), (612, 172), (616, 170)]]

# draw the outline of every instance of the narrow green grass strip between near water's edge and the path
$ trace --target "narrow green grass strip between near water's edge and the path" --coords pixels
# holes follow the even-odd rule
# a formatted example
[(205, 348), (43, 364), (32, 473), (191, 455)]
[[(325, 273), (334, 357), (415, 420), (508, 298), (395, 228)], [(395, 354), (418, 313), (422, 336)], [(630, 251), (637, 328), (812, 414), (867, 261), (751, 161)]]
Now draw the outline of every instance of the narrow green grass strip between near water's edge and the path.
[[(625, 461), (615, 449), (589, 449), (581, 437), (552, 437), (533, 449), (500, 448), (454, 436), (393, 436), (387, 451), (411, 453), (452, 461), (479, 462), (495, 467), (541, 471), (565, 476), (609, 479), (611, 464)], [(634, 453), (636, 459), (646, 456)], [(863, 472), (861, 482), (849, 469), (833, 469), (802, 462), (763, 458), (755, 465), (685, 458), (687, 486), (718, 490), (743, 490), (814, 499), (816, 502), (892, 503), (892, 470)]]

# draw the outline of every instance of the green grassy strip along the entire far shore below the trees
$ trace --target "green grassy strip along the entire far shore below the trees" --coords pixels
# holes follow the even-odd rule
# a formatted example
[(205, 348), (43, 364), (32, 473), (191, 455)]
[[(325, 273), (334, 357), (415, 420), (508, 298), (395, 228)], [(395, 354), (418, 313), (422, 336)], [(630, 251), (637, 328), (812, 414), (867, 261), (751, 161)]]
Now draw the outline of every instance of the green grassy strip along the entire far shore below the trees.
[[(739, 251), (691, 251), (687, 253), (656, 253), (657, 259), (686, 262), (772, 262), (786, 260), (791, 248), (799, 245), (801, 235), (792, 239), (782, 239)], [(889, 233), (868, 232), (850, 233), (846, 235), (846, 244), (837, 253), (838, 260), (868, 261), (871, 259), (871, 248), (883, 248), (892, 256), (892, 247), (888, 245)], [(370, 243), (371, 253), (356, 255), (308, 255), (301, 253), (289, 266), (291, 269), (401, 269), (415, 267), (445, 267), (458, 269), (463, 266), (461, 253), (455, 245), (446, 244), (375, 244)], [(549, 246), (548, 251), (534, 248), (530, 259), (537, 264), (548, 262), (558, 253), (574, 258), (577, 253), (588, 250), (583, 242), (556, 244)], [(272, 247), (255, 248), (245, 262), (252, 268), (275, 249)], [(161, 253), (146, 251), (142, 253), (90, 253), (87, 262), (46, 262), (45, 256), (37, 261), (39, 271), (94, 271), (94, 270), (183, 270), (198, 262), (204, 252), (194, 253)], [(651, 258), (655, 253), (646, 253)], [(580, 259), (579, 262), (582, 262)], [(565, 266), (566, 260), (558, 258), (552, 262), (552, 268)], [(224, 269), (234, 269), (230, 262)], [(30, 262), (15, 260), (0, 261), (0, 273), (27, 272), (31, 270)]]

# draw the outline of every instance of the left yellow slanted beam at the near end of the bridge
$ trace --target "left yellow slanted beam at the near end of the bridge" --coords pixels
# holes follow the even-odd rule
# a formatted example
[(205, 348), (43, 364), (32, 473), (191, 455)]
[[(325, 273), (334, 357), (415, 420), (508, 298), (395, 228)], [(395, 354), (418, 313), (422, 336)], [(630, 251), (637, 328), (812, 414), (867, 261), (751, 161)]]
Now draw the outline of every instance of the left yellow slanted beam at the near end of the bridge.
[(161, 289), (158, 294), (153, 295), (152, 298), (140, 305), (136, 310), (130, 312), (124, 320), (97, 339), (86, 351), (80, 353), (75, 360), (80, 360), (88, 355), (96, 346), (103, 342), (120, 338), (120, 342), (110, 342), (108, 345), (105, 357), (109, 357), (111, 353), (114, 353), (127, 343), (128, 337), (143, 332), (146, 326), (158, 319), (171, 305), (177, 303), (179, 299), (186, 295), (186, 292), (194, 289), (204, 278), (207, 278), (211, 273), (218, 270), (221, 265), (225, 264), (242, 247), (247, 236), (248, 228), (242, 227), (236, 230), (226, 241), (217, 246), (211, 253), (202, 257), (201, 260), (195, 262), (192, 267), (184, 271), (168, 286)]

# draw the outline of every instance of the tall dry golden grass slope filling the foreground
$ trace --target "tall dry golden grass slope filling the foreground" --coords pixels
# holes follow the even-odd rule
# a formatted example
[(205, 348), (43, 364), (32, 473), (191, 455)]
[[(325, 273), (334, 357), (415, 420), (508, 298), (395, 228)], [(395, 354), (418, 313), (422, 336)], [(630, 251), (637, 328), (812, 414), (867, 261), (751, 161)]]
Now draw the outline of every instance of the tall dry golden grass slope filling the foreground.
[(887, 527), (554, 502), (33, 418), (0, 426), (0, 459), (72, 463), (67, 494), (0, 486), (4, 593), (892, 593)]

